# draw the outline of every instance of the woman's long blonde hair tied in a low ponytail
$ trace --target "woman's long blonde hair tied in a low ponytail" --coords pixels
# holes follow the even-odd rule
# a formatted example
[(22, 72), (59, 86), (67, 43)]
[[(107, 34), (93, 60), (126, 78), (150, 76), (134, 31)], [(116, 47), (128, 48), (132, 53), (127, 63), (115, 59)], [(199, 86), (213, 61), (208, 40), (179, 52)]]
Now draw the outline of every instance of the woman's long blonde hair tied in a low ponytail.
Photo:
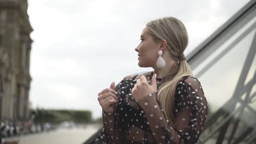
[(171, 81), (162, 84), (159, 87), (158, 92), (162, 109), (164, 110), (167, 119), (174, 125), (175, 119), (173, 110), (176, 86), (178, 81), (184, 76), (193, 76), (187, 61), (181, 61), (183, 52), (188, 46), (187, 29), (176, 17), (162, 17), (148, 22), (146, 26), (149, 30), (149, 34), (152, 35), (155, 41), (160, 41), (162, 39), (167, 41), (167, 49), (170, 51), (171, 56), (176, 61), (180, 61), (173, 67), (173, 71), (176, 71), (176, 75)]

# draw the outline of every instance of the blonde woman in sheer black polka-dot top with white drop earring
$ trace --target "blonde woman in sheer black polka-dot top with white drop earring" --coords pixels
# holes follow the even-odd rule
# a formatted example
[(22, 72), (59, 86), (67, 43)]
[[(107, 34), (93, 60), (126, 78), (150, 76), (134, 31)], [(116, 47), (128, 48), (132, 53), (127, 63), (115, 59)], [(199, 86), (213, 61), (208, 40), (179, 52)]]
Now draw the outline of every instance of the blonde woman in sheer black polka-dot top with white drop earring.
[(147, 23), (136, 47), (139, 67), (98, 93), (103, 125), (95, 143), (196, 143), (207, 116), (202, 86), (183, 54), (188, 34), (175, 17)]

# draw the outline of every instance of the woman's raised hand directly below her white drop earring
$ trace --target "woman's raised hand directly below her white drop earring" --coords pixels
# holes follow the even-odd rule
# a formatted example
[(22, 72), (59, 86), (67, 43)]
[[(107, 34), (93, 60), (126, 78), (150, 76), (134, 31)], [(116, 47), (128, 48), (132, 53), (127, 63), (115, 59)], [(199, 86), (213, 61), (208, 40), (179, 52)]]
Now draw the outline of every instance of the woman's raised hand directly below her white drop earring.
[(151, 85), (149, 85), (146, 77), (144, 75), (142, 75), (141, 77), (139, 77), (139, 79), (137, 80), (137, 83), (132, 88), (131, 94), (135, 100), (139, 101), (140, 99), (142, 99), (149, 93), (156, 92), (156, 90), (157, 90), (156, 74), (154, 76), (152, 76)]

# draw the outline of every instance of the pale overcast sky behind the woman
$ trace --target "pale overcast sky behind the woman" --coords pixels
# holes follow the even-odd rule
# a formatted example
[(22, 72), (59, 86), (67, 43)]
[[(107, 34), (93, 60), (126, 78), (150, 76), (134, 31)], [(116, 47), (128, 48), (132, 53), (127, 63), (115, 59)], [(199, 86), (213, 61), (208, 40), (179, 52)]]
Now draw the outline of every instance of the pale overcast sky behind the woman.
[(97, 94), (139, 68), (135, 47), (150, 20), (174, 16), (189, 34), (188, 55), (248, 0), (28, 0), (34, 29), (31, 51), (33, 108), (91, 110)]

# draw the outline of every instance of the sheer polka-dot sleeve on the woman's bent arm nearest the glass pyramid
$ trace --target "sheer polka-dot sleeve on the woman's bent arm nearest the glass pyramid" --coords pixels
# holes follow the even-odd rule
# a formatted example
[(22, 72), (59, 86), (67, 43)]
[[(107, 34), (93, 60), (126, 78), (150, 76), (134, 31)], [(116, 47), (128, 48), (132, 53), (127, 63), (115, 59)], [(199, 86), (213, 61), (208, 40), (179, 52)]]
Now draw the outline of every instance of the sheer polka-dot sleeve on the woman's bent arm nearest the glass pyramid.
[(196, 143), (207, 116), (207, 101), (200, 82), (190, 78), (179, 82), (174, 96), (176, 123), (172, 127), (156, 93), (138, 101), (157, 143)]

